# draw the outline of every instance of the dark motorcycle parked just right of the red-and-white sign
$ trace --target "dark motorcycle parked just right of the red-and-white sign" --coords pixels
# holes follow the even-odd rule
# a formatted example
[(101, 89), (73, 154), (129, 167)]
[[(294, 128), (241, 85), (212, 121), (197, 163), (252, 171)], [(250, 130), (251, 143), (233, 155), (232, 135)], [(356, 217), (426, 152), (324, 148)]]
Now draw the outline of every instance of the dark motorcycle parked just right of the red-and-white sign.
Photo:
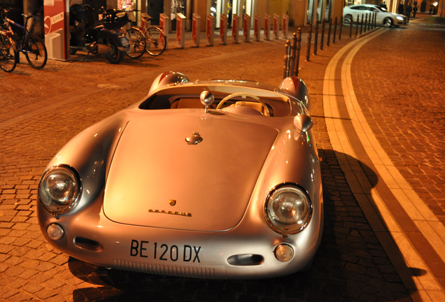
[(117, 31), (129, 22), (125, 12), (104, 10), (100, 22), (96, 22), (92, 6), (82, 3), (71, 6), (69, 13), (71, 55), (78, 50), (97, 55), (99, 45), (104, 45), (108, 61), (112, 64), (122, 62), (130, 47), (128, 38)]

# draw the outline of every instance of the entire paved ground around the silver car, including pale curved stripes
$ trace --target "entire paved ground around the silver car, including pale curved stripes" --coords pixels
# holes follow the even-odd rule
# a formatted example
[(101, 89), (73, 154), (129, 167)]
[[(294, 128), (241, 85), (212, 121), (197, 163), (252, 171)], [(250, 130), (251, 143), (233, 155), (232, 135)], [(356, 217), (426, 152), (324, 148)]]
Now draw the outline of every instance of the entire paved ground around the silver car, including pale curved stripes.
[[(325, 206), (307, 271), (260, 280), (202, 280), (108, 270), (59, 252), (36, 217), (38, 181), (73, 136), (136, 103), (164, 71), (190, 80), (283, 80), (286, 38), (184, 48), (159, 57), (78, 52), (26, 59), (0, 73), (0, 301), (445, 301), (445, 20), (349, 37), (306, 60)], [(318, 38), (320, 43), (320, 37)], [(160, 129), (162, 132), (162, 129)]]

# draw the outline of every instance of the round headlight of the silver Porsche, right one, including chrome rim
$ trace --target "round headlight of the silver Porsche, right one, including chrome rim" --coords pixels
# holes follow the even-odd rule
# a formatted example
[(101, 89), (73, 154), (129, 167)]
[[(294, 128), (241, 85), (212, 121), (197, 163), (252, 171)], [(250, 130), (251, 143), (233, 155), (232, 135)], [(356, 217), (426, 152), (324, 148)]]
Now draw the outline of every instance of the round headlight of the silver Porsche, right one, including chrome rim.
[(266, 217), (272, 229), (283, 235), (302, 231), (312, 215), (312, 203), (306, 192), (295, 185), (281, 185), (266, 201)]

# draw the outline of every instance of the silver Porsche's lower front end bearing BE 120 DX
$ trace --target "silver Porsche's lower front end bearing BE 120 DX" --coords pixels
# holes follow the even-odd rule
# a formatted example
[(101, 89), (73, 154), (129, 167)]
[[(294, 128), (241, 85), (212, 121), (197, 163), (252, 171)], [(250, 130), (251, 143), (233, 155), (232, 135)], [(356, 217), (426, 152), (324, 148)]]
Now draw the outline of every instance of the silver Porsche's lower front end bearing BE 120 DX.
[[(288, 275), (311, 263), (321, 240), (323, 208), (315, 206), (308, 227), (288, 237), (257, 215), (246, 215), (234, 229), (222, 232), (119, 224), (108, 220), (99, 203), (58, 218), (38, 206), (38, 220), (57, 250), (91, 264), (189, 278), (254, 279)], [(62, 238), (48, 236), (50, 225), (63, 229)], [(289, 261), (277, 259), (281, 245), (291, 247)]]

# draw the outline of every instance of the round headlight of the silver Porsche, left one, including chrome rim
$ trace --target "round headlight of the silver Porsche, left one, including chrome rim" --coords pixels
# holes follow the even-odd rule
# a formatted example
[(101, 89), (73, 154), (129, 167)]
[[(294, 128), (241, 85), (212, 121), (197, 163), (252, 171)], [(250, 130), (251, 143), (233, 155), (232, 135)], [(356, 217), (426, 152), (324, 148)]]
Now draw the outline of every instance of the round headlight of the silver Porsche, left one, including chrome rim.
[(38, 185), (38, 199), (54, 214), (71, 210), (80, 197), (82, 185), (78, 173), (68, 166), (53, 166), (43, 173)]

